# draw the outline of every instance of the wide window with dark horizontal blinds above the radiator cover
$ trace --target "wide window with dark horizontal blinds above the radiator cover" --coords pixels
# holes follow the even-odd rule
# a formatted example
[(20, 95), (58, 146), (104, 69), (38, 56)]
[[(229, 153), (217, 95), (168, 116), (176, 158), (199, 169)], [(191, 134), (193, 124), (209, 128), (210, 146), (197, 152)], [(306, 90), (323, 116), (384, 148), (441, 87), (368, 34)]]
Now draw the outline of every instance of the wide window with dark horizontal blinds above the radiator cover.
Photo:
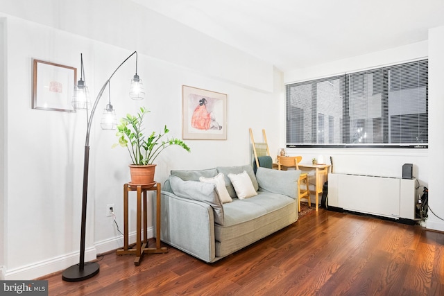
[(287, 146), (428, 144), (427, 60), (287, 85)]

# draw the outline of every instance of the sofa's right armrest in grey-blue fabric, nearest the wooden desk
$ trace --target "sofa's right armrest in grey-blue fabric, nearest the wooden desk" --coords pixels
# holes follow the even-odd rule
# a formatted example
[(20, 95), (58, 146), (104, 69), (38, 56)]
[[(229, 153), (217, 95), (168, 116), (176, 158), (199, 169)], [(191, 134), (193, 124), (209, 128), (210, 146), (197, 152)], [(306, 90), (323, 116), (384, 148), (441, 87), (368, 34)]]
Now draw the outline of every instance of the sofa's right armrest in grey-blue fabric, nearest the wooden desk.
[(296, 199), (300, 170), (278, 171), (271, 168), (257, 168), (256, 179), (259, 190), (287, 195)]

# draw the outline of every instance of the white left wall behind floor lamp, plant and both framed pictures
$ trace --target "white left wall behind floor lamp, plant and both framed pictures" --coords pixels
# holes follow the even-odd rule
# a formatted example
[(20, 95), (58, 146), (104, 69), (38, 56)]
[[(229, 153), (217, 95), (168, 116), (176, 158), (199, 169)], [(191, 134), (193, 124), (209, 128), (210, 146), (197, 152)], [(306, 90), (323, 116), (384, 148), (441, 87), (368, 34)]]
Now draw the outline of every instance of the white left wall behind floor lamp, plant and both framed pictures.
[[(187, 140), (191, 153), (176, 147), (168, 148), (157, 159), (155, 179), (158, 182), (163, 182), (171, 169), (250, 163), (248, 128), (253, 128), (256, 139), (262, 137), (262, 128), (270, 131), (267, 136), (271, 150), (278, 151), (280, 135), (273, 131), (280, 130), (279, 122), (263, 120), (280, 112), (280, 106), (284, 104), (282, 73), (271, 64), (248, 57), (148, 10), (144, 12), (152, 19), (144, 19), (135, 32), (120, 32), (113, 41), (111, 36), (119, 32), (114, 19), (102, 17), (96, 21), (92, 16), (100, 15), (99, 7), (83, 17), (83, 12), (87, 11), (83, 8), (93, 5), (90, 1), (80, 1), (81, 4), (40, 2), (53, 3), (54, 6), (49, 10), (36, 7), (42, 12), (38, 17), (35, 12), (26, 10), (28, 1), (6, 1), (6, 5), (0, 8), (0, 17), (6, 17), (6, 39), (2, 42), (6, 46), (6, 58), (1, 61), (8, 64), (4, 88), (8, 90), (4, 103), (8, 117), (0, 125), (7, 127), (1, 138), (6, 144), (2, 202), (7, 206), (5, 225), (0, 232), (5, 237), (1, 258), (6, 267), (6, 279), (33, 279), (78, 263), (85, 113), (32, 109), (33, 58), (79, 69), (80, 53), (83, 53), (87, 85), (91, 94), (96, 96), (112, 71), (137, 50), (137, 72), (144, 81), (146, 98), (144, 101), (128, 98), (130, 78), (135, 71), (135, 59), (132, 58), (111, 80), (112, 104), (117, 116), (135, 112), (139, 106), (145, 105), (151, 110), (146, 128), (158, 131), (167, 124), (175, 137), (181, 137), (182, 85), (228, 94), (228, 139)], [(94, 1), (94, 5), (96, 2), (104, 4), (104, 1)], [(125, 13), (129, 13), (126, 1), (106, 1), (105, 14), (119, 15), (123, 2)], [(69, 12), (67, 8), (73, 6), (83, 7), (81, 13), (80, 8), (74, 8), (78, 12)], [(133, 6), (129, 7), (133, 13), (144, 13), (138, 11), (144, 8), (138, 6), (136, 11)], [(19, 17), (33, 21), (5, 11), (17, 12)], [(54, 19), (57, 21), (52, 22)], [(69, 27), (66, 19), (72, 21)], [(90, 30), (77, 32), (77, 25), (83, 24), (85, 19), (89, 20)], [(46, 26), (47, 20), (50, 20), (49, 25), (57, 28)], [(109, 40), (93, 40), (92, 32), (105, 35)], [(151, 34), (162, 39), (153, 40)], [(121, 35), (125, 35), (123, 39), (137, 42), (122, 45)], [(146, 38), (150, 42), (146, 42)], [(182, 46), (174, 40), (180, 40)], [(205, 46), (195, 50), (196, 44)], [(169, 49), (167, 53), (165, 46)], [(202, 69), (204, 64), (205, 71)], [(108, 92), (104, 96), (94, 117), (90, 139), (86, 260), (94, 259), (98, 252), (123, 245), (112, 218), (105, 217), (105, 205), (115, 204), (117, 223), (123, 229), (123, 184), (129, 180), (130, 159), (126, 150), (111, 148), (117, 141), (115, 132), (100, 128), (101, 110), (105, 107)], [(22, 164), (26, 164), (26, 169)], [(132, 204), (130, 216), (134, 217), (134, 214), (135, 204)], [(135, 223), (130, 223), (131, 232), (135, 232)], [(152, 232), (151, 227), (149, 232)], [(30, 245), (32, 252), (29, 252)]]

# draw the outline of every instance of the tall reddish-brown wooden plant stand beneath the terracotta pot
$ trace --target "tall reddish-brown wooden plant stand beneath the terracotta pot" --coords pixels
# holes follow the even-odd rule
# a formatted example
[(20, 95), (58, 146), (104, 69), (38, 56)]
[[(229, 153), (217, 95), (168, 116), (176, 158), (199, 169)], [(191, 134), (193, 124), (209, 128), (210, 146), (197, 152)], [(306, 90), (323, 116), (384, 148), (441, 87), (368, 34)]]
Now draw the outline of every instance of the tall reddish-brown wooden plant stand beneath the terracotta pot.
[[(136, 245), (131, 249), (128, 247), (128, 192), (137, 191), (137, 230)], [(146, 191), (156, 191), (157, 209), (156, 209), (156, 247), (148, 247), (148, 234), (146, 227), (148, 226)], [(143, 220), (144, 220), (144, 240), (142, 241), (142, 195), (143, 195)], [(160, 247), (160, 183), (136, 185), (131, 183), (123, 184), (123, 249), (116, 251), (117, 255), (135, 254), (134, 264), (139, 265), (142, 256), (148, 253), (166, 253), (167, 247)]]

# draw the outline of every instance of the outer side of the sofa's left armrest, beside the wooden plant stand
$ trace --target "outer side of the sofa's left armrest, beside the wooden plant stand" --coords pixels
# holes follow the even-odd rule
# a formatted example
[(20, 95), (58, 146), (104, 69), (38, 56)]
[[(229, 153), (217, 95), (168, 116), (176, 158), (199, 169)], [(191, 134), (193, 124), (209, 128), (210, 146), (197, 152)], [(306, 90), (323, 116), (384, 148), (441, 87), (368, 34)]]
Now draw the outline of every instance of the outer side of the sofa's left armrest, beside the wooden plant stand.
[[(216, 253), (212, 207), (167, 191), (162, 191), (160, 200), (160, 239), (203, 261), (213, 261)], [(154, 227), (155, 209), (156, 200), (153, 198)]]

